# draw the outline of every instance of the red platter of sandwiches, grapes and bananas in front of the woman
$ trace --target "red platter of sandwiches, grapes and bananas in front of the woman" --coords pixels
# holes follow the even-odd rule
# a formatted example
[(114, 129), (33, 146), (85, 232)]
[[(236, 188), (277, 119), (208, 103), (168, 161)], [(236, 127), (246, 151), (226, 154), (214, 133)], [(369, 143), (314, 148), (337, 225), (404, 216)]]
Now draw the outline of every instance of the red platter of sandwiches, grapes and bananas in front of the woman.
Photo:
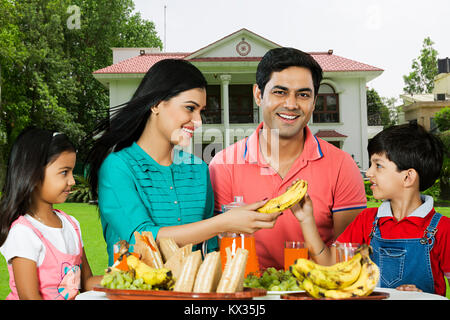
[(133, 252), (126, 241), (119, 241), (120, 251), (114, 264), (95, 291), (111, 300), (246, 300), (265, 296), (267, 290), (244, 288), (248, 258), (246, 249), (227, 252), (222, 271), (220, 253), (203, 258), (192, 244), (179, 247), (172, 238), (157, 244), (151, 232), (136, 232)]

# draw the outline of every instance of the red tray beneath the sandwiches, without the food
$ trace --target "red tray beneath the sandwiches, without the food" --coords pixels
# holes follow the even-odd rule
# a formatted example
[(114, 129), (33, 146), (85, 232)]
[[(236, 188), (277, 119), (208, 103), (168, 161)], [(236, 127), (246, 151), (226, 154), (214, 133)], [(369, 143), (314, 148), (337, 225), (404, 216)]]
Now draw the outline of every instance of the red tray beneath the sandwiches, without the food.
[(94, 291), (106, 293), (110, 300), (251, 300), (267, 294), (267, 290), (244, 288), (235, 293), (195, 293), (169, 290), (122, 290), (95, 286)]

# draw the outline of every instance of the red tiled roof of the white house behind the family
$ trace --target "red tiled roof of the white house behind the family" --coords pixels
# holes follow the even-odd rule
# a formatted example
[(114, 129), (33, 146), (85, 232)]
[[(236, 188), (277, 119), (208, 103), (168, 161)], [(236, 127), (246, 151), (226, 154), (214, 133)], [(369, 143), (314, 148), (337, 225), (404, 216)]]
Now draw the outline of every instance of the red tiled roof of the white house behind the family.
[[(365, 63), (343, 58), (328, 52), (312, 52), (313, 58), (320, 64), (324, 72), (351, 72), (351, 71), (383, 71), (383, 69)], [(163, 59), (183, 59), (190, 53), (149, 53), (123, 60), (109, 67), (94, 71), (99, 73), (146, 73), (156, 62)], [(259, 61), (261, 57), (207, 57), (193, 58), (189, 61)]]

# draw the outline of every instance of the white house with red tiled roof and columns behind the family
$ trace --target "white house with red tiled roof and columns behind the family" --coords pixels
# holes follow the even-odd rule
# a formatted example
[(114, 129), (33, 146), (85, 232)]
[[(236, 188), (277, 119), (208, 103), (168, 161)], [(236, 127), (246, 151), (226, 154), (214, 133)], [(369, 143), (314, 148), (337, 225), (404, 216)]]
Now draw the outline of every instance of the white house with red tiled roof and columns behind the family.
[[(204, 74), (208, 87), (202, 130), (196, 131), (190, 151), (208, 163), (216, 152), (248, 136), (262, 121), (252, 86), (262, 56), (277, 47), (281, 45), (240, 29), (194, 52), (113, 48), (113, 64), (93, 75), (109, 88), (110, 106), (116, 106), (131, 98), (157, 61), (178, 58), (192, 62)], [(369, 130), (367, 126), (366, 83), (383, 70), (335, 55), (333, 50), (309, 53), (324, 71), (309, 126), (318, 137), (351, 154), (361, 169), (367, 169), (367, 141), (380, 128)]]

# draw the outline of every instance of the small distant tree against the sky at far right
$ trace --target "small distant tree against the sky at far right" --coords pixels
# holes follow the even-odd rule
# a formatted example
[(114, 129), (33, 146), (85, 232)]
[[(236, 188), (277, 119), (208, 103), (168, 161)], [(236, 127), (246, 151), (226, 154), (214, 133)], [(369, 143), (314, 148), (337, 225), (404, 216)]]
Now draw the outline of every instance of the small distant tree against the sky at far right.
[(412, 71), (403, 76), (403, 91), (409, 94), (431, 93), (434, 88), (434, 77), (438, 73), (438, 52), (433, 48), (434, 42), (427, 37), (423, 40), (418, 58), (412, 62)]

